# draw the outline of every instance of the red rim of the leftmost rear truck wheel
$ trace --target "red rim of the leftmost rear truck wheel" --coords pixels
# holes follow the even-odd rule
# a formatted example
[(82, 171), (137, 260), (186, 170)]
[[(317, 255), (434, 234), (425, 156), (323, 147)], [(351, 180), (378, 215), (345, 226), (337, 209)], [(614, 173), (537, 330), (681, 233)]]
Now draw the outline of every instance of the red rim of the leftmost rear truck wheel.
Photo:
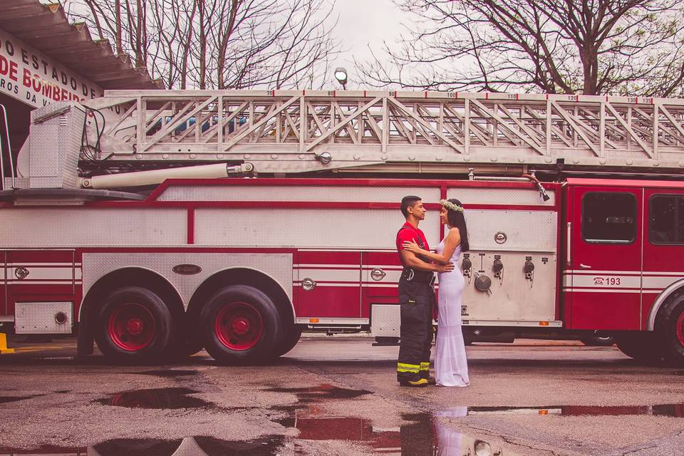
[(109, 317), (109, 337), (125, 351), (138, 351), (150, 345), (155, 332), (155, 317), (140, 304), (125, 303)]

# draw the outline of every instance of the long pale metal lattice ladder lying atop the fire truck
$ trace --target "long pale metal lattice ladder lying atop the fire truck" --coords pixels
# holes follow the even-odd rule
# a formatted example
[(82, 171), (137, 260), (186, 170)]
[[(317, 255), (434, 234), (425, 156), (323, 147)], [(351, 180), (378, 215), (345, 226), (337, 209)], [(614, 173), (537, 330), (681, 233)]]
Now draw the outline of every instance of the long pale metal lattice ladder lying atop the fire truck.
[(281, 173), (476, 164), (552, 168), (558, 162), (684, 170), (682, 99), (109, 90), (85, 104), (107, 120), (97, 153), (113, 163), (250, 162), (257, 172)]

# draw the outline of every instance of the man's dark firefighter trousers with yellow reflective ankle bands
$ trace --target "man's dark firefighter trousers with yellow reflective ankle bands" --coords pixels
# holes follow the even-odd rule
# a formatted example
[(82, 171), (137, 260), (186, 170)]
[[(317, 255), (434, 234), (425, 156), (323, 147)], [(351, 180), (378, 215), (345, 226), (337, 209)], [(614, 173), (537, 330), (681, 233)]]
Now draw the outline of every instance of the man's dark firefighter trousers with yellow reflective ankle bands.
[(399, 281), (399, 359), (397, 380), (415, 381), (430, 376), (430, 348), (432, 348), (432, 308), (435, 291), (423, 281)]

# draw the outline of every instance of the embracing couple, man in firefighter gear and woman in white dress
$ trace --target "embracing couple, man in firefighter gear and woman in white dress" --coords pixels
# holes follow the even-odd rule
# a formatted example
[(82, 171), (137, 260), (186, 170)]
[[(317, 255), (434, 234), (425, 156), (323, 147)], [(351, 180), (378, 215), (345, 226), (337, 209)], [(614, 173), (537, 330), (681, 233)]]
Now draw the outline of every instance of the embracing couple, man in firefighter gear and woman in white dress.
[[(406, 223), (397, 233), (397, 249), (404, 269), (399, 279), (401, 313), (397, 380), (402, 386), (467, 386), (468, 366), (461, 330), (461, 296), (465, 281), (456, 262), (467, 252), (468, 233), (463, 206), (457, 199), (442, 199), (440, 219), (448, 227), (437, 253), (430, 252), (425, 234), (418, 229), (425, 219), (420, 197), (401, 200)], [(432, 309), (435, 306), (435, 272), (439, 275), (437, 353), (435, 378), (430, 376)]]

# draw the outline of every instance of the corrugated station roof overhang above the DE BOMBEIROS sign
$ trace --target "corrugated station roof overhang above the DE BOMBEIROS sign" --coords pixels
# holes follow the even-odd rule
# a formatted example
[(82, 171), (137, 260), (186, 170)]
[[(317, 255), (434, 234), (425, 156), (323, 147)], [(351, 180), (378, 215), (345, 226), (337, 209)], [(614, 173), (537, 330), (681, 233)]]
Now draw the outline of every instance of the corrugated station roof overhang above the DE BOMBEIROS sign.
[(93, 39), (86, 24), (70, 24), (61, 4), (1, 1), (1, 29), (101, 88), (163, 88), (147, 68), (135, 68), (130, 56), (115, 55), (108, 40)]

